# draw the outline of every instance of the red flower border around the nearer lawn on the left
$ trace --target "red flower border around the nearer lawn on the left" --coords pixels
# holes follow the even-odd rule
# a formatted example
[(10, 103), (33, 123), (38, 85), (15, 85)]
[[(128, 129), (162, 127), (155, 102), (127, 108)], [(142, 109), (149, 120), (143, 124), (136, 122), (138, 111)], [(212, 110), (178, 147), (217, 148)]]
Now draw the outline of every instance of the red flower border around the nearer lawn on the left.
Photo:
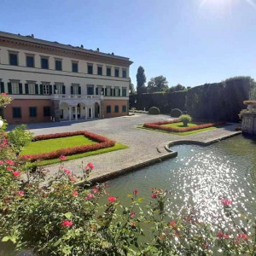
[(84, 137), (89, 137), (90, 139), (96, 141), (96, 144), (92, 145), (83, 145), (73, 148), (61, 148), (49, 153), (43, 153), (43, 154), (30, 154), (29, 156), (23, 155), (21, 158), (29, 159), (31, 161), (35, 160), (50, 160), (59, 158), (61, 155), (71, 155), (71, 154), (80, 154), (84, 152), (89, 151), (95, 151), (97, 149), (102, 148), (109, 148), (113, 147), (115, 142), (112, 140), (109, 140), (107, 137), (103, 137), (101, 135), (97, 135), (95, 133), (89, 132), (89, 131), (73, 131), (73, 132), (62, 132), (62, 133), (55, 133), (55, 134), (47, 134), (47, 135), (39, 135), (36, 137), (33, 137), (32, 141), (41, 141), (41, 140), (48, 140), (53, 138), (59, 138), (59, 137), (71, 137), (76, 135), (84, 135)]

